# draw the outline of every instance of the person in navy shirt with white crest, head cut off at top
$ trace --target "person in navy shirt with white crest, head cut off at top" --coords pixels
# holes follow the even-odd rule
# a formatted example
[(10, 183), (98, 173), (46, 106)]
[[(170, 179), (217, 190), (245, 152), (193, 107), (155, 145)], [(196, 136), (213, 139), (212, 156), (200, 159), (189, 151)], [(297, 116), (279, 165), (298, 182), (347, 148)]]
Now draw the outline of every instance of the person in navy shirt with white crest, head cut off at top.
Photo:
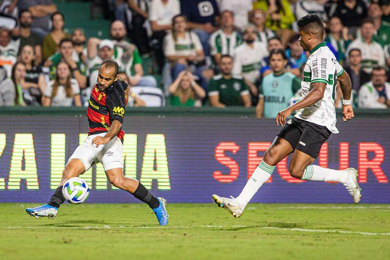
[(188, 19), (188, 27), (201, 40), (203, 51), (208, 56), (209, 38), (218, 30), (219, 8), (216, 0), (181, 0), (182, 14)]

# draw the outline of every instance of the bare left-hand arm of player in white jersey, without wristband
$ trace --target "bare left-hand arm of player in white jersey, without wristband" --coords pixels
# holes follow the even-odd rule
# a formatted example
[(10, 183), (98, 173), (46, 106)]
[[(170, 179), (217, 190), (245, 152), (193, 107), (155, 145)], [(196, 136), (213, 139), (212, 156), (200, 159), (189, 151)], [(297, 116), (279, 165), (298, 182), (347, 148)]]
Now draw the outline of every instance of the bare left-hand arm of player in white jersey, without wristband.
[(276, 116), (277, 125), (285, 125), (286, 119), (291, 115), (293, 111), (311, 106), (312, 104), (315, 104), (318, 100), (321, 100), (324, 97), (327, 83), (312, 82), (310, 84), (310, 87), (312, 89), (310, 90), (308, 95), (306, 95), (302, 100), (296, 102), (295, 104), (287, 107), (286, 109), (278, 113), (278, 115)]

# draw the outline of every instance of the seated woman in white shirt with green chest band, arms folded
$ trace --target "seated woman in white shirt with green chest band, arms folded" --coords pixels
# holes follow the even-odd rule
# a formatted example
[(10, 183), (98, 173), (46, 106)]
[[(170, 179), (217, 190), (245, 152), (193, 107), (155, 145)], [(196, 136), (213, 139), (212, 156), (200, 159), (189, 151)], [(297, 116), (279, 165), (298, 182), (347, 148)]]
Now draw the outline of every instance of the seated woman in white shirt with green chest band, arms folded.
[[(165, 36), (164, 54), (171, 64), (172, 79), (176, 80), (179, 73), (191, 70), (199, 79), (200, 85), (206, 89), (209, 71), (205, 66), (205, 53), (199, 37), (188, 31), (187, 19), (177, 15), (172, 19), (172, 33)], [(204, 72), (207, 69), (206, 72)]]

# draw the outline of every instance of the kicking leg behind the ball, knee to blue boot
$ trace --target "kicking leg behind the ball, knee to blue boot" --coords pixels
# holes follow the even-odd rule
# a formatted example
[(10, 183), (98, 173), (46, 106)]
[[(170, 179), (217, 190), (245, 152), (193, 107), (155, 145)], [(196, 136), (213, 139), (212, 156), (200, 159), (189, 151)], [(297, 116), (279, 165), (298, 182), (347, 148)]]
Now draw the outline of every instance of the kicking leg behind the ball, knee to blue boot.
[(84, 171), (85, 166), (81, 160), (69, 160), (65, 166), (65, 169), (63, 169), (62, 171), (62, 180), (60, 186), (55, 190), (50, 201), (39, 207), (26, 208), (27, 214), (29, 214), (30, 216), (34, 216), (37, 219), (41, 217), (48, 217), (49, 219), (54, 219), (57, 216), (58, 208), (65, 201), (65, 198), (62, 195), (63, 183), (70, 178), (78, 177)]

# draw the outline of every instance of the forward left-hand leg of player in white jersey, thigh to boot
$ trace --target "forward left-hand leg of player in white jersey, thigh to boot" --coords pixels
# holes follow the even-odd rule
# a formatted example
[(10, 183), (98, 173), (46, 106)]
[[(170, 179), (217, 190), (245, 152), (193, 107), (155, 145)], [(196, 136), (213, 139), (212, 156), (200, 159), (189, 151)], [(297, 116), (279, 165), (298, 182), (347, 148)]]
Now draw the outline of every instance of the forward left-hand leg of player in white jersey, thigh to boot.
[(275, 138), (271, 146), (264, 154), (264, 159), (257, 166), (250, 179), (246, 182), (244, 189), (237, 198), (224, 198), (216, 194), (212, 199), (218, 206), (226, 209), (234, 218), (240, 218), (246, 205), (266, 182), (272, 176), (276, 163), (283, 160), (287, 155), (292, 153), (293, 149), (289, 142), (282, 138)]

